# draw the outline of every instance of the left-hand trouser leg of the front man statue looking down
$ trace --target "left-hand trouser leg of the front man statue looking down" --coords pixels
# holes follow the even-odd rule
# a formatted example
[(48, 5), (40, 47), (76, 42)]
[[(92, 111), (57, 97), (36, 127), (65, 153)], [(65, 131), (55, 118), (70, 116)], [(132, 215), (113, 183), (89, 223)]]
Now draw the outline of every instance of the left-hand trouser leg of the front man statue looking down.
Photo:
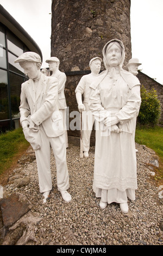
[(41, 148), (35, 150), (40, 192), (52, 190), (51, 148), (49, 138), (40, 128)]

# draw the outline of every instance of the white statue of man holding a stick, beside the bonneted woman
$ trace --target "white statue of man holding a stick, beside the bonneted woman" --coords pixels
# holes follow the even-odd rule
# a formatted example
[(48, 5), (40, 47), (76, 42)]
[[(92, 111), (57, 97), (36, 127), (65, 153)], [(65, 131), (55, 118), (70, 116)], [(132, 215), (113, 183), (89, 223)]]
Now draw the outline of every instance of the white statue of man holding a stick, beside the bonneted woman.
[[(88, 75), (84, 75), (75, 90), (76, 99), (78, 103), (79, 112), (86, 111), (86, 115), (83, 119), (83, 122), (86, 121), (86, 124), (83, 124), (83, 151), (84, 156), (89, 157), (89, 149), (90, 149), (90, 137), (92, 132), (92, 126), (94, 123), (94, 117), (90, 111), (89, 107), (89, 94), (90, 94), (90, 84), (96, 79), (101, 70), (102, 59), (99, 57), (92, 58), (90, 60), (89, 66), (91, 69), (91, 73)], [(82, 95), (84, 95), (84, 101), (82, 101)]]

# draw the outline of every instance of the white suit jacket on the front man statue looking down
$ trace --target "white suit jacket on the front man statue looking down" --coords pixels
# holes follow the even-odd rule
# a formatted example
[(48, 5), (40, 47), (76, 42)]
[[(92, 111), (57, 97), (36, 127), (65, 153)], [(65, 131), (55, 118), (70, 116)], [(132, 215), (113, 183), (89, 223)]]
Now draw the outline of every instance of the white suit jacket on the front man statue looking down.
[(20, 122), (28, 116), (36, 125), (42, 124), (48, 137), (58, 137), (65, 130), (58, 109), (58, 80), (41, 73), (39, 86), (35, 94), (34, 81), (29, 79), (22, 83)]

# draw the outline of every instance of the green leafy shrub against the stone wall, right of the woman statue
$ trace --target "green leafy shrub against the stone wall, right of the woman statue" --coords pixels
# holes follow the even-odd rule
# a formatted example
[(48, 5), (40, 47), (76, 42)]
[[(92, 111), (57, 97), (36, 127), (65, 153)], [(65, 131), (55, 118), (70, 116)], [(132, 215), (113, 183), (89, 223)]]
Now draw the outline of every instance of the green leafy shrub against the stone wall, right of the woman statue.
[(137, 120), (142, 125), (156, 125), (160, 118), (161, 105), (153, 88), (149, 91), (141, 86), (141, 106)]

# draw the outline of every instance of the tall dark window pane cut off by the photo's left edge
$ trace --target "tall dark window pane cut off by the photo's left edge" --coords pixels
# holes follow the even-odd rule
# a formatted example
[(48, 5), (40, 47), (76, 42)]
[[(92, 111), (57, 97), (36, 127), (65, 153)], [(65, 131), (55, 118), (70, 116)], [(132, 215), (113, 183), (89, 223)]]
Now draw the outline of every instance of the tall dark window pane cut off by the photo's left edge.
[(0, 120), (9, 119), (8, 76), (0, 69)]

